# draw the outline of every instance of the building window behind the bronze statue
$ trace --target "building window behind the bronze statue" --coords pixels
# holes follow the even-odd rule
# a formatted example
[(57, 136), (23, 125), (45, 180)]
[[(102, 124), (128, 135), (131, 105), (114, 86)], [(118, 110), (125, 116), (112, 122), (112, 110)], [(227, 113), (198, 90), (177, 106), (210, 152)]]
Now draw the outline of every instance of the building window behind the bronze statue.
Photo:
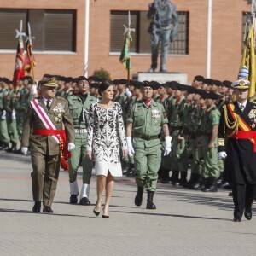
[[(150, 20), (147, 18), (148, 11), (131, 12), (131, 28), (133, 41), (131, 52), (139, 54), (151, 53), (150, 33), (148, 26)], [(168, 54), (187, 55), (189, 54), (189, 12), (177, 12), (179, 31), (177, 38), (168, 49)], [(111, 11), (111, 32), (110, 32), (110, 52), (120, 52), (124, 44), (124, 26), (128, 25), (127, 11)]]

